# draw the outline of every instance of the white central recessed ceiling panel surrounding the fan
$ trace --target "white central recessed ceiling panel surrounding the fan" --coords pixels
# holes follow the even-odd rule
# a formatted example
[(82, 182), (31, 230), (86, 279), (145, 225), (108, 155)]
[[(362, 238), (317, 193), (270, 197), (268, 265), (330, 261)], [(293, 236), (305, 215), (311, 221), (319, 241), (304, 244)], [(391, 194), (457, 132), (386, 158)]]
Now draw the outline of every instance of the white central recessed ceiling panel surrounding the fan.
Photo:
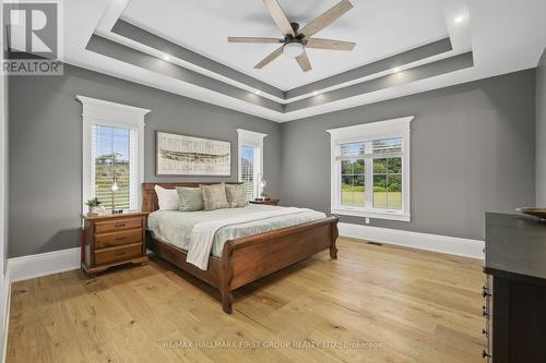
[[(305, 26), (339, 0), (280, 0)], [(352, 52), (308, 49), (312, 71), (281, 57), (253, 66), (278, 45), (228, 44), (227, 36), (283, 38), (262, 0), (131, 0), (122, 19), (161, 37), (288, 90), (448, 36), (438, 0), (353, 0), (354, 8), (316, 36), (357, 44)]]

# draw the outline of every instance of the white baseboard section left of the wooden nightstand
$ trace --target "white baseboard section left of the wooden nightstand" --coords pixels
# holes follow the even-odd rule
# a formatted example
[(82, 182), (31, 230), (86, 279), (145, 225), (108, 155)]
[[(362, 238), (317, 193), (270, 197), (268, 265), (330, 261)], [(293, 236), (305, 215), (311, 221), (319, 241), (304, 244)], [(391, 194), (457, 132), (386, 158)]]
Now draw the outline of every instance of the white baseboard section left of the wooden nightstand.
[(13, 257), (8, 261), (11, 282), (36, 277), (70, 271), (80, 268), (81, 249), (40, 253), (37, 255)]

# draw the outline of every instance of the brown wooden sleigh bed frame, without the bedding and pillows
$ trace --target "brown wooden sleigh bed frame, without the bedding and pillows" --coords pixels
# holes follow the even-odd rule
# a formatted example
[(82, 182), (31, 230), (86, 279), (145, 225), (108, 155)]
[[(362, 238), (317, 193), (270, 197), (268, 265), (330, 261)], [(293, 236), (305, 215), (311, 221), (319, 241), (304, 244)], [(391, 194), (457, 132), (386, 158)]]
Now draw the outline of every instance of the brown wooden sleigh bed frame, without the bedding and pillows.
[[(212, 183), (143, 183), (144, 211), (158, 209), (154, 186), (197, 187)], [(224, 244), (222, 257), (210, 256), (209, 269), (201, 270), (186, 262), (187, 252), (158, 240), (147, 232), (147, 247), (169, 263), (219, 290), (222, 307), (233, 313), (233, 293), (237, 288), (278, 271), (324, 250), (336, 258), (337, 218), (328, 217), (308, 223), (273, 230), (265, 233), (229, 240)]]

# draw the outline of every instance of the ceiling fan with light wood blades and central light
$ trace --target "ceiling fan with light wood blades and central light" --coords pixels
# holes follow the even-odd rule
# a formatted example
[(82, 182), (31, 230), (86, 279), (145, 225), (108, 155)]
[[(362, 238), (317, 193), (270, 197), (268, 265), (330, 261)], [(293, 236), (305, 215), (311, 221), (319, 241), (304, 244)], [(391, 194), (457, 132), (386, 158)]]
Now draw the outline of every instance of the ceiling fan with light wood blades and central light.
[(322, 38), (311, 38), (314, 34), (332, 24), (347, 11), (353, 9), (348, 0), (342, 0), (323, 14), (316, 17), (309, 24), (299, 28), (298, 23), (290, 23), (286, 17), (277, 0), (263, 0), (268, 7), (273, 21), (284, 35), (284, 39), (265, 37), (228, 37), (228, 43), (249, 43), (249, 44), (282, 44), (282, 46), (265, 57), (254, 69), (261, 70), (281, 55), (288, 58), (295, 58), (304, 72), (311, 70), (311, 63), (306, 53), (306, 48), (325, 49), (325, 50), (345, 50), (351, 51), (356, 44), (351, 41), (331, 40)]

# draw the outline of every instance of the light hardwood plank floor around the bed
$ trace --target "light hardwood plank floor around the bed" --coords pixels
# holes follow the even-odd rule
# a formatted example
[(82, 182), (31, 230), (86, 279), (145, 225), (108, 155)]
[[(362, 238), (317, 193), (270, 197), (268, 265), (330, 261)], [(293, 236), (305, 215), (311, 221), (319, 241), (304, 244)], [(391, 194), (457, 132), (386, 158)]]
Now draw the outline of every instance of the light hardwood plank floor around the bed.
[(480, 262), (339, 249), (237, 291), (232, 316), (216, 290), (157, 258), (14, 283), (8, 362), (483, 362)]

